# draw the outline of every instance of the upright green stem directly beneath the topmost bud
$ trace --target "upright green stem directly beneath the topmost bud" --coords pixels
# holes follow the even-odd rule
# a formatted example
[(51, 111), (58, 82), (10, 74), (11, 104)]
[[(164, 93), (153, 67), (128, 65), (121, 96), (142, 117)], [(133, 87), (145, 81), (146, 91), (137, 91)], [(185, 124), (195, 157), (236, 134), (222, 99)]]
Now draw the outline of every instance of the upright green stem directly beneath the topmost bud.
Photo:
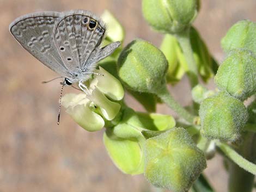
[(197, 64), (193, 57), (193, 50), (190, 42), (190, 28), (187, 28), (183, 32), (176, 34), (176, 38), (179, 41), (180, 47), (187, 61), (187, 66), (188, 66), (187, 76), (190, 79), (190, 84), (191, 84), (191, 87), (193, 88), (198, 84), (198, 72), (197, 72)]

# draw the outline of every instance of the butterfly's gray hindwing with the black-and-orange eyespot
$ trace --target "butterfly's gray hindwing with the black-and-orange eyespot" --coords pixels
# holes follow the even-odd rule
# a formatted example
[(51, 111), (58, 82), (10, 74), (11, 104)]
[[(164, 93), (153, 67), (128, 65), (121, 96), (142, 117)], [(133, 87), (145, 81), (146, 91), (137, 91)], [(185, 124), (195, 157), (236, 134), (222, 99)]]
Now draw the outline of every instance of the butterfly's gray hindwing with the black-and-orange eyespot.
[(100, 49), (105, 24), (85, 10), (64, 12), (54, 28), (54, 41), (63, 63), (70, 71), (84, 69), (89, 57)]

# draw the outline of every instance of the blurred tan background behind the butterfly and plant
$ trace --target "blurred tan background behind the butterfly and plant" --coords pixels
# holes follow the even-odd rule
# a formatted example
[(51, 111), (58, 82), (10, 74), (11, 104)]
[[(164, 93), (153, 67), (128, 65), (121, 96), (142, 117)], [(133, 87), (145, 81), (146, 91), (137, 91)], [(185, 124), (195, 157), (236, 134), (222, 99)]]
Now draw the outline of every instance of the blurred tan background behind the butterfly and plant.
[[(109, 159), (102, 133), (78, 127), (62, 111), (56, 125), (60, 86), (56, 73), (27, 53), (8, 31), (16, 17), (43, 10), (87, 9), (97, 15), (109, 9), (126, 30), (125, 44), (143, 38), (159, 46), (162, 35), (143, 20), (139, 0), (0, 0), (0, 191), (120, 191), (150, 192), (143, 175), (122, 174)], [(194, 25), (218, 61), (224, 57), (220, 40), (236, 21), (256, 21), (256, 1), (204, 0)], [(187, 80), (172, 94), (182, 104), (191, 101)], [(212, 83), (211, 83), (212, 84)], [(65, 89), (65, 92), (74, 89)], [(143, 110), (127, 97), (136, 110)], [(172, 113), (161, 105), (158, 112)], [(206, 174), (217, 191), (227, 190), (221, 158), (208, 162)]]

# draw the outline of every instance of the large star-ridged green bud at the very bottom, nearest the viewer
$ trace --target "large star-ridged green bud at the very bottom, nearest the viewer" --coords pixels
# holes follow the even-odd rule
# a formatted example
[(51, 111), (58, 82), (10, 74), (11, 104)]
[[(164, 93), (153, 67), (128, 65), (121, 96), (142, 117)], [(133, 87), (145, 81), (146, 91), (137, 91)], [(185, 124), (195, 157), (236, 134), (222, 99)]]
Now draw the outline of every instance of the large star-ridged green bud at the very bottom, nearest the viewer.
[(204, 154), (184, 128), (173, 128), (145, 144), (145, 177), (174, 192), (190, 189), (206, 168)]

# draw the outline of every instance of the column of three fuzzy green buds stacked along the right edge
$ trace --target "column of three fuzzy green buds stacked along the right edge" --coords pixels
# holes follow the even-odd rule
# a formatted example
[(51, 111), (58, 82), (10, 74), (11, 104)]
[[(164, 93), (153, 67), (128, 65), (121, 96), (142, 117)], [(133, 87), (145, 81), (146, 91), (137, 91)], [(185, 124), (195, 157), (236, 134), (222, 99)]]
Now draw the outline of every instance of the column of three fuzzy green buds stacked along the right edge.
[(227, 57), (215, 76), (221, 91), (200, 105), (205, 137), (235, 141), (247, 122), (248, 110), (243, 101), (256, 93), (255, 30), (255, 23), (240, 21), (222, 39)]

